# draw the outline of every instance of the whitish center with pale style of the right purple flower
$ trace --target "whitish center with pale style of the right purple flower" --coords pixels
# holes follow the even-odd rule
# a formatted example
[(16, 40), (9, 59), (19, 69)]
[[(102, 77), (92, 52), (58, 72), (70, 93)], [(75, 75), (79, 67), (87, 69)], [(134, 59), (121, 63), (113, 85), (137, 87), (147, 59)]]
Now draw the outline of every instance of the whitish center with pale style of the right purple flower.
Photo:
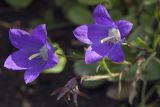
[(121, 39), (121, 35), (118, 29), (112, 28), (108, 31), (108, 36), (106, 38), (101, 39), (101, 43), (112, 42), (117, 43)]

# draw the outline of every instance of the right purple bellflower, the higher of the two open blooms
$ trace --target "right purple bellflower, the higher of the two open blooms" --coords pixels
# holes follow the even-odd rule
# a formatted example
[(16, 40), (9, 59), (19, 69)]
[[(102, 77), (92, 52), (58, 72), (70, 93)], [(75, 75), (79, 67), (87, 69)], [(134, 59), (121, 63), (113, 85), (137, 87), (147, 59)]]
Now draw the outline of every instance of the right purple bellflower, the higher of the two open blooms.
[(73, 31), (78, 40), (90, 45), (85, 53), (86, 64), (97, 62), (104, 57), (114, 62), (123, 62), (121, 45), (133, 24), (126, 20), (112, 21), (101, 4), (95, 8), (93, 19), (95, 24), (81, 25)]

